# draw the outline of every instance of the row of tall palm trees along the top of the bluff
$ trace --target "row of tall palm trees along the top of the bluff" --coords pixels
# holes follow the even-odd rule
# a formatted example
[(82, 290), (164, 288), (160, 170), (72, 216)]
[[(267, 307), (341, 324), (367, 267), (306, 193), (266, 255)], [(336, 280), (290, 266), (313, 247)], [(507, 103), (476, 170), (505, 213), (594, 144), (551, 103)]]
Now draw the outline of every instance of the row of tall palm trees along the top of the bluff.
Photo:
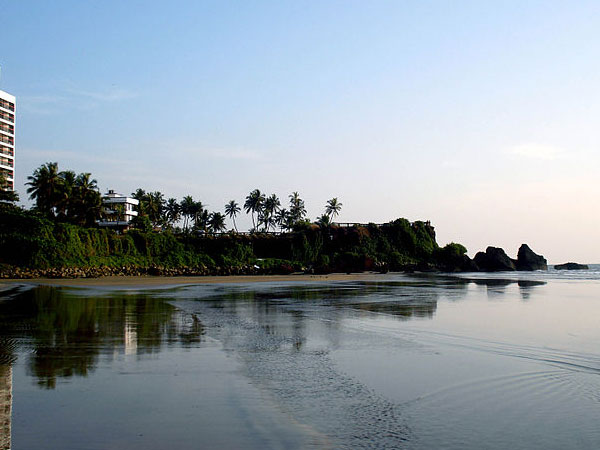
[[(35, 202), (33, 209), (51, 219), (91, 227), (108, 215), (122, 216), (125, 213), (122, 205), (112, 205), (110, 211), (103, 208), (98, 183), (90, 173), (60, 171), (58, 163), (49, 162), (38, 167), (27, 179), (27, 194)], [(3, 184), (4, 181), (0, 180), (0, 186)], [(236, 200), (227, 202), (223, 213), (209, 211), (191, 195), (178, 201), (176, 198), (166, 199), (159, 191), (147, 192), (139, 188), (131, 196), (139, 202), (138, 215), (131, 225), (144, 231), (170, 229), (220, 233), (227, 229), (226, 218), (229, 218), (233, 224), (232, 231), (237, 232), (236, 218), (242, 210), (251, 216), (250, 232), (285, 232), (311, 223), (304, 200), (298, 192), (288, 196), (288, 205), (284, 207), (276, 194), (266, 195), (254, 189), (241, 204)], [(18, 196), (14, 192), (3, 191), (0, 200), (14, 203)], [(324, 213), (315, 223), (320, 226), (331, 225), (341, 208), (342, 203), (337, 197), (328, 200)]]

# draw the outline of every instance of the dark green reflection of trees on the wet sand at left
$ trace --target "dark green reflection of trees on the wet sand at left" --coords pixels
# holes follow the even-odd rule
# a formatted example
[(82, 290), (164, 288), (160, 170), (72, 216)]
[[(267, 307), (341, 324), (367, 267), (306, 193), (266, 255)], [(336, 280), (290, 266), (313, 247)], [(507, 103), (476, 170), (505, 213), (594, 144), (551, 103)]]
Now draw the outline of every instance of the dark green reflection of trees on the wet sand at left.
[[(159, 351), (165, 342), (189, 345), (203, 329), (189, 324), (162, 299), (146, 295), (81, 298), (51, 287), (38, 287), (0, 304), (0, 323), (10, 323), (19, 340), (32, 342), (28, 371), (40, 386), (54, 388), (58, 378), (87, 376), (100, 354)], [(0, 336), (10, 336), (0, 330)], [(12, 341), (11, 341), (12, 342)], [(1, 347), (2, 342), (0, 342)], [(6, 345), (4, 346), (6, 347)], [(10, 348), (8, 349), (10, 350)], [(13, 353), (0, 348), (0, 365)], [(6, 361), (9, 365), (12, 359)]]

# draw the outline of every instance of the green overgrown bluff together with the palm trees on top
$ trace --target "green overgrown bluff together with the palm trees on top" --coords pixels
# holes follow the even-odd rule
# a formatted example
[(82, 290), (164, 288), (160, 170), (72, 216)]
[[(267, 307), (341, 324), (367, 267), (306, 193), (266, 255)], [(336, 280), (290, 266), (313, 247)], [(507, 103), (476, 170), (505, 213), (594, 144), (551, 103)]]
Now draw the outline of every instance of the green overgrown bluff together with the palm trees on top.
[[(89, 173), (59, 171), (47, 163), (29, 177), (35, 207), (27, 211), (10, 203), (0, 208), (0, 265), (30, 269), (68, 267), (199, 268), (202, 273), (317, 273), (363, 270), (454, 270), (466, 257), (460, 244), (439, 248), (428, 222), (397, 219), (386, 224), (339, 226), (332, 222), (342, 207), (327, 201), (316, 223), (306, 217), (304, 200), (289, 196), (289, 208), (259, 189), (245, 199), (250, 233), (226, 229), (241, 212), (231, 200), (225, 214), (208, 212), (186, 196), (165, 200), (160, 192), (138, 189), (138, 217), (133, 229), (119, 234), (98, 228), (101, 197)], [(114, 208), (112, 214), (124, 211)], [(237, 227), (235, 227), (237, 229)], [(279, 228), (279, 232), (275, 232)], [(226, 272), (227, 273), (227, 272)], [(231, 272), (230, 272), (231, 273)]]

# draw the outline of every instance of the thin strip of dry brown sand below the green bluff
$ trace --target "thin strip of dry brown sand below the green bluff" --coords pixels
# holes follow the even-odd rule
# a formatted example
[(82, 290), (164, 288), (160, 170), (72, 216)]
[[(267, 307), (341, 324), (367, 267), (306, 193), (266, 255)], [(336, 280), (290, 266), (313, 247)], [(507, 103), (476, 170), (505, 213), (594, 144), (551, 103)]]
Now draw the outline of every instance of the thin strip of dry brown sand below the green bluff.
[(216, 284), (216, 283), (265, 283), (289, 281), (367, 281), (381, 278), (378, 273), (328, 275), (231, 275), (231, 276), (198, 276), (198, 277), (102, 277), (102, 278), (32, 278), (32, 279), (3, 279), (1, 284), (42, 284), (51, 286), (73, 287), (159, 287), (190, 284)]

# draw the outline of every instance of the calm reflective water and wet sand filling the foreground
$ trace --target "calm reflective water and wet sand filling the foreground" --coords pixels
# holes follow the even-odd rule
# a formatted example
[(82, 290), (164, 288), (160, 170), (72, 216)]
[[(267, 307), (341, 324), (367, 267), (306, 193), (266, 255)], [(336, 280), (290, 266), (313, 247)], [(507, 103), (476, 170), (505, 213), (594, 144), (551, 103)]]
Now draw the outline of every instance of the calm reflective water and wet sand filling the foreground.
[(600, 266), (0, 295), (0, 449), (600, 448)]

